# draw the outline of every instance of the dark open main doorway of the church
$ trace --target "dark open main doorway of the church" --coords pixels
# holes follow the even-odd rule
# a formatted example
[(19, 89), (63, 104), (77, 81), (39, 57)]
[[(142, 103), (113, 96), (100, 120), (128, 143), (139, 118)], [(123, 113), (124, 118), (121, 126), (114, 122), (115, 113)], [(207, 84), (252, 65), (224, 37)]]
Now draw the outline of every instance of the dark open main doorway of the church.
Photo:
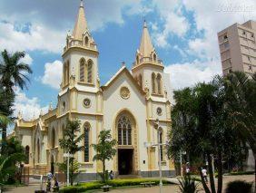
[(118, 150), (118, 173), (119, 175), (133, 173), (133, 150)]

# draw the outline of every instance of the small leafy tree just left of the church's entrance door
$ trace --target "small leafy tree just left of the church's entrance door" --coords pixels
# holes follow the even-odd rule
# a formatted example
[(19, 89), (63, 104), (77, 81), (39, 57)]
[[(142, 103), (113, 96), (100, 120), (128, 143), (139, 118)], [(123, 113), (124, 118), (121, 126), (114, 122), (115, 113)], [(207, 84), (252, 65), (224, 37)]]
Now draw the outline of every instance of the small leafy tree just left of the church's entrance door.
[(98, 136), (98, 144), (92, 144), (96, 154), (94, 160), (100, 160), (103, 163), (103, 182), (106, 181), (105, 173), (105, 161), (113, 159), (116, 153), (116, 149), (113, 147), (116, 144), (116, 140), (112, 140), (111, 130), (102, 130)]

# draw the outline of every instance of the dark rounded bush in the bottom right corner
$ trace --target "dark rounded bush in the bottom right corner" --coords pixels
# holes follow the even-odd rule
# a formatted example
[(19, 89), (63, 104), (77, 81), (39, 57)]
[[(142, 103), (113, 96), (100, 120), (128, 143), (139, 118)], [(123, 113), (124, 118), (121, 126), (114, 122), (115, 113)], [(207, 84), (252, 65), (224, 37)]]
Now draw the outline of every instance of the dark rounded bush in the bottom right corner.
[(235, 180), (228, 183), (226, 193), (251, 193), (252, 183)]

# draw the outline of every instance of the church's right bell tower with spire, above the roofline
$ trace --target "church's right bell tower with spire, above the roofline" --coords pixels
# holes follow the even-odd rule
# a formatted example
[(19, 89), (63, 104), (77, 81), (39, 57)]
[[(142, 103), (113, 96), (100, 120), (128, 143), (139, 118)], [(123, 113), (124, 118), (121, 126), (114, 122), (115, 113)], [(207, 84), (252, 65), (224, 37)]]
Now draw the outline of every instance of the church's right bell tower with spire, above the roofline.
[(163, 68), (162, 60), (159, 59), (153, 47), (146, 21), (144, 21), (140, 48), (136, 52), (133, 63), (133, 78), (145, 92), (162, 97)]

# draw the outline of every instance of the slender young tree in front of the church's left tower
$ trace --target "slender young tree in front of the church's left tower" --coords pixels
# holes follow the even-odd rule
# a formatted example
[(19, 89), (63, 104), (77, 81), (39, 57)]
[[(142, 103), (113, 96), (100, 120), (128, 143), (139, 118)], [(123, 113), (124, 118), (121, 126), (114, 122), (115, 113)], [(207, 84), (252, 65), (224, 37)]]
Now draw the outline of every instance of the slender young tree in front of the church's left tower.
[[(74, 120), (74, 121), (66, 121), (66, 126), (63, 130), (63, 139), (59, 140), (60, 146), (62, 149), (64, 149), (66, 152), (69, 152), (70, 154), (74, 155), (76, 152), (80, 150), (84, 150), (84, 146), (79, 146), (79, 143), (84, 138), (84, 133), (80, 133), (80, 121)], [(71, 186), (73, 186), (74, 182), (74, 172), (75, 172), (75, 166), (74, 166), (74, 158), (70, 159), (70, 183)]]

